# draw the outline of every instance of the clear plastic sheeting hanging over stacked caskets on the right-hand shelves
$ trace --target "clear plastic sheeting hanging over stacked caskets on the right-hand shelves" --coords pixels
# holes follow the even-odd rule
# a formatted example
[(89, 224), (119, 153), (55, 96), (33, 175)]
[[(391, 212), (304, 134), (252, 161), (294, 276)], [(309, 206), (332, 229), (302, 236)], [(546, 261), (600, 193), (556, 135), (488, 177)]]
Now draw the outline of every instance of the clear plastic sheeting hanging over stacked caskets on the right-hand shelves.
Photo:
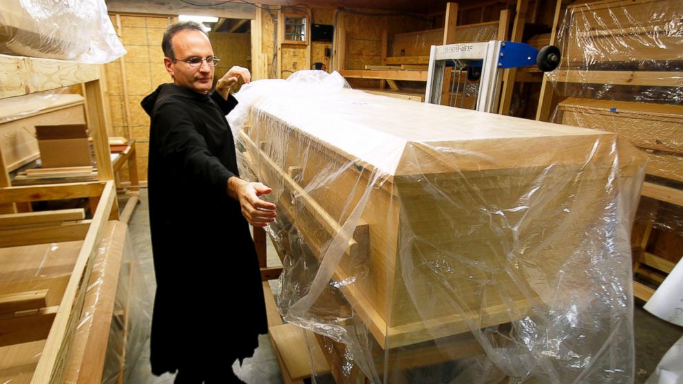
[[(675, 264), (683, 248), (683, 2), (577, 2), (560, 22), (551, 121), (614, 132), (647, 154), (634, 262), (654, 255)], [(664, 276), (636, 272), (655, 285)]]

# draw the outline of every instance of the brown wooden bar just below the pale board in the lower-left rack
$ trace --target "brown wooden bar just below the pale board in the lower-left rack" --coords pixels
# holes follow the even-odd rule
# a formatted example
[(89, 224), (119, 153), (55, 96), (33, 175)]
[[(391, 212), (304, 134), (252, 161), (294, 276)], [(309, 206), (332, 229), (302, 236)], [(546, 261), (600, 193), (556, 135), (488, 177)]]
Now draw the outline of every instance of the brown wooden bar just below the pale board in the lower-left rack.
[(0, 231), (0, 247), (25, 246), (83, 240), (90, 227), (90, 220), (36, 228)]

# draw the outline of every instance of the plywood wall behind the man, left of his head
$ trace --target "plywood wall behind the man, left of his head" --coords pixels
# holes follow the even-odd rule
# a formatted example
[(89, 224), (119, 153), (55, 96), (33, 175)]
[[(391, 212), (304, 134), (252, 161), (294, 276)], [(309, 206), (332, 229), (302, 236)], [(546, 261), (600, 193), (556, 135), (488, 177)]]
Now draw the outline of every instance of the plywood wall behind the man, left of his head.
[[(128, 51), (123, 60), (105, 65), (109, 107), (112, 111), (112, 134), (136, 140), (138, 177), (147, 180), (149, 154), (149, 117), (140, 101), (159, 84), (171, 77), (163, 64), (161, 39), (169, 17), (137, 17), (111, 15), (119, 39)], [(124, 69), (125, 68), (125, 69)], [(127, 179), (127, 170), (120, 174)]]

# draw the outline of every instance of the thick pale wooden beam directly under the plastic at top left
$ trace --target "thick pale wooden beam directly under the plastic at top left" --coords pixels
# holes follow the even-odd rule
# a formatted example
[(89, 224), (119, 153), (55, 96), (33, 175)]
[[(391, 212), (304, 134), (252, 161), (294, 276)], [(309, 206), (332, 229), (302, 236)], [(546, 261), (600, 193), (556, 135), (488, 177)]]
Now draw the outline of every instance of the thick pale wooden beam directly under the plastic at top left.
[(48, 91), (100, 77), (100, 66), (0, 54), (0, 99)]

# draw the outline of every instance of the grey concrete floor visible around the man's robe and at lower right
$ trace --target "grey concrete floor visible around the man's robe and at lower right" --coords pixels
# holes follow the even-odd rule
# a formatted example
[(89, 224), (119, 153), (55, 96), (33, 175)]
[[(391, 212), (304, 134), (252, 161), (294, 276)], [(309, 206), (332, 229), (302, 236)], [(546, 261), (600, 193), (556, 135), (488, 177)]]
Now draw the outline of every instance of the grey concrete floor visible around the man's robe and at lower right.
[[(122, 204), (123, 206), (123, 204)], [(130, 222), (129, 237), (139, 266), (145, 279), (145, 286), (149, 294), (151, 305), (156, 290), (154, 280), (154, 265), (151, 257), (151, 244), (149, 240), (149, 218), (147, 211), (147, 189), (140, 191), (140, 204), (138, 204)], [(269, 266), (280, 264), (280, 260), (275, 254), (275, 249), (269, 242), (268, 250)], [(275, 281), (271, 281), (273, 292), (277, 287), (273, 286)], [(151, 307), (149, 308), (151, 313)], [(635, 329), (635, 383), (644, 383), (653, 372), (664, 353), (683, 336), (683, 328), (674, 326), (671, 323), (662, 321), (654, 317), (649, 312), (642, 309), (642, 304), (636, 303), (633, 323)], [(174, 375), (165, 374), (154, 376), (151, 374), (149, 366), (149, 339), (143, 346), (142, 357), (137, 364), (130, 367), (132, 376), (129, 376), (129, 383), (135, 384), (171, 384)], [(277, 365), (275, 352), (268, 335), (259, 337), (259, 347), (255, 350), (251, 359), (245, 359), (240, 367), (239, 363), (233, 363), (233, 370), (242, 381), (249, 384), (277, 384), (282, 383), (280, 379), (280, 367)]]

